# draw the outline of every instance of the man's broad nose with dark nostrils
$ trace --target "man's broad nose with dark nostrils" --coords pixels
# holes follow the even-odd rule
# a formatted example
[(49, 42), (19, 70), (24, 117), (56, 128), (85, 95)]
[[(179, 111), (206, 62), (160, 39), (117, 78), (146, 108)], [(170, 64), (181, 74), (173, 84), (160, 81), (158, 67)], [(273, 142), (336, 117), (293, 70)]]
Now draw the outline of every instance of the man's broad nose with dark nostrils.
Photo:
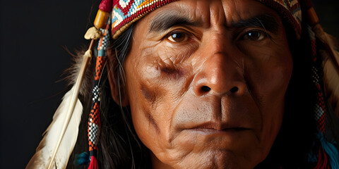
[(206, 60), (194, 77), (193, 88), (196, 96), (214, 93), (218, 95), (242, 95), (246, 90), (242, 58), (232, 56), (236, 49), (225, 46), (225, 38), (216, 35), (203, 48)]

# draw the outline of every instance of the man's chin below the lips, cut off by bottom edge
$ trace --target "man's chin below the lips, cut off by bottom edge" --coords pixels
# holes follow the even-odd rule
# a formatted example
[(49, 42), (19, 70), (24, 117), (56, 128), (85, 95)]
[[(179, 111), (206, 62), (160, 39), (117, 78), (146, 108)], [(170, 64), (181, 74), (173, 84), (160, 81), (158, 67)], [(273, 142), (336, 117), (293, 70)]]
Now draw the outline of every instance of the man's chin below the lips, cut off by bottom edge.
[(171, 151), (157, 154), (158, 161), (167, 164), (168, 168), (252, 169), (269, 151), (259, 146), (251, 131), (202, 134), (199, 131), (197, 135), (190, 139), (191, 142), (176, 142), (177, 146)]

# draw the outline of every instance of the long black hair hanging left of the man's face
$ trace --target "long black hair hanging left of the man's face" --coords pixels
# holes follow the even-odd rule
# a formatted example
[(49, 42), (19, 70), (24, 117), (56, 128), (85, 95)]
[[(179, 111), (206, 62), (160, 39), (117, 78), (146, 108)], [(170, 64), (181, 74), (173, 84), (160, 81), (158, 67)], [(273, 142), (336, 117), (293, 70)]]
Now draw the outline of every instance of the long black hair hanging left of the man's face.
[[(135, 24), (135, 23), (134, 23)], [(148, 149), (141, 143), (134, 130), (129, 107), (121, 106), (121, 90), (124, 88), (124, 60), (131, 49), (133, 25), (123, 32), (108, 49), (109, 68), (102, 77), (102, 132), (98, 159), (102, 168), (150, 168)], [(109, 70), (111, 69), (111, 70)], [(119, 104), (111, 96), (107, 73), (114, 73), (119, 93)]]

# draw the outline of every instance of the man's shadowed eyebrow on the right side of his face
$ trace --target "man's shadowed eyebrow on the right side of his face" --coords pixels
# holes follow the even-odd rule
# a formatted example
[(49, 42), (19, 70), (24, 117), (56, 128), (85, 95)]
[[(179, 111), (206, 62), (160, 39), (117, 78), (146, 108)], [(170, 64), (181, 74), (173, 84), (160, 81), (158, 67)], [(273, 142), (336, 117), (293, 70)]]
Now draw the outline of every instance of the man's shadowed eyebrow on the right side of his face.
[(279, 30), (279, 23), (277, 18), (268, 14), (257, 15), (246, 20), (238, 20), (231, 25), (231, 27), (262, 27), (263, 29), (269, 32), (273, 32), (275, 34), (277, 34)]

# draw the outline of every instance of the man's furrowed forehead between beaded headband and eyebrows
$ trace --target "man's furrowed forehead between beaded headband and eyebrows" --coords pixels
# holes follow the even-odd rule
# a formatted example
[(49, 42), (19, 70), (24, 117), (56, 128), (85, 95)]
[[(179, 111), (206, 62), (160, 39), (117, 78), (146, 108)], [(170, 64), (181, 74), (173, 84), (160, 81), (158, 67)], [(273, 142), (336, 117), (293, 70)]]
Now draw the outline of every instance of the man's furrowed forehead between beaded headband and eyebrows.
[(213, 24), (231, 27), (239, 20), (256, 17), (257, 15), (270, 15), (280, 18), (278, 13), (268, 6), (254, 0), (182, 0), (174, 1), (162, 6), (146, 15), (147, 23), (153, 20), (164, 21), (174, 16), (184, 16), (195, 25), (209, 27)]

